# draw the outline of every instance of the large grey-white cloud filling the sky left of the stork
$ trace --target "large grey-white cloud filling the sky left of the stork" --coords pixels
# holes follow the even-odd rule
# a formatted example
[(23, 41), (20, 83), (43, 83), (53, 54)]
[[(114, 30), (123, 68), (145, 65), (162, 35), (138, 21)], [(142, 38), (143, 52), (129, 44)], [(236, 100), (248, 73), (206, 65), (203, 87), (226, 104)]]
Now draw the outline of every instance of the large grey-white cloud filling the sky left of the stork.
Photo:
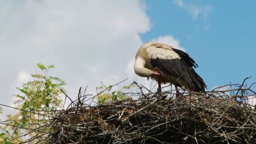
[(3, 104), (13, 102), (15, 87), (35, 73), (38, 62), (56, 66), (49, 75), (65, 80), (72, 99), (80, 86), (95, 94), (101, 81), (125, 79), (125, 66), (142, 44), (139, 34), (150, 29), (140, 0), (10, 0), (0, 12), (1, 98), (8, 97)]

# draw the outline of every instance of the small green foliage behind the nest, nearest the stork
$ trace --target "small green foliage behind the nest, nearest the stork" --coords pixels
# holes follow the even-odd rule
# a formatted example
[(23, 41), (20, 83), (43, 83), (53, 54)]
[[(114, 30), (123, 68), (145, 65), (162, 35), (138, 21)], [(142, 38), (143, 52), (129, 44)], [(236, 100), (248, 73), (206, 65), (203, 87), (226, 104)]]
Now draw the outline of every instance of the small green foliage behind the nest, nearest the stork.
[(103, 84), (103, 82), (101, 82), (101, 86), (97, 87), (98, 92), (103, 91), (102, 93), (99, 93), (99, 99), (98, 99), (99, 104), (104, 104), (109, 101), (120, 101), (120, 100), (129, 99), (131, 96), (127, 93), (124, 93), (123, 90), (128, 90), (134, 85), (133, 84), (126, 85), (118, 91), (111, 91), (112, 86), (113, 85), (106, 86)]

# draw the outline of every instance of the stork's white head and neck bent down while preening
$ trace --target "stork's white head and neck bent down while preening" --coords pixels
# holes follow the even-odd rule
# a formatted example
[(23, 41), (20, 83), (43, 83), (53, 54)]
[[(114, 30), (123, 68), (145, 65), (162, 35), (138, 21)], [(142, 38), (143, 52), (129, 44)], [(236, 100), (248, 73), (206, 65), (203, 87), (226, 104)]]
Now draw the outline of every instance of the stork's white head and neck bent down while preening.
[(141, 77), (149, 77), (152, 75), (152, 70), (145, 68), (146, 62), (143, 58), (137, 57), (134, 63), (134, 72)]

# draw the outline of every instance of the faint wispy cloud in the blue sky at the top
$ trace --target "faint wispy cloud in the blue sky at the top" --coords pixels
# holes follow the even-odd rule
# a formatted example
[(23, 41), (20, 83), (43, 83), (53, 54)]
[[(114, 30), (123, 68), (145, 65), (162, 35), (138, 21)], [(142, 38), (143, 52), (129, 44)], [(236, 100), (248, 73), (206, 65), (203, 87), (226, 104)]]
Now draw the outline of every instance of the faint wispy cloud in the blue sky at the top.
[(193, 20), (196, 20), (199, 16), (203, 16), (206, 20), (208, 19), (209, 13), (213, 10), (209, 5), (197, 6), (191, 3), (183, 3), (182, 0), (173, 0), (173, 3), (190, 13)]

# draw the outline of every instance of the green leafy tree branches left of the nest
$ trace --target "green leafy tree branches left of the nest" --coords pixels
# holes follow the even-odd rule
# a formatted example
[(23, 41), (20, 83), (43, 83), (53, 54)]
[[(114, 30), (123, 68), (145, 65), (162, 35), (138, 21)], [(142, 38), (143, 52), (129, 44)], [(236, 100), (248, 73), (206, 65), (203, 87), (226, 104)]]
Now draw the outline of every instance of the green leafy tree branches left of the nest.
[[(0, 133), (0, 143), (8, 142), (24, 133), (29, 133), (32, 129), (45, 125), (48, 123), (48, 116), (53, 116), (54, 110), (61, 107), (60, 88), (63, 89), (61, 86), (65, 85), (65, 82), (59, 77), (48, 76), (48, 71), (54, 68), (53, 65), (45, 67), (39, 63), (37, 66), (43, 73), (31, 75), (35, 80), (23, 83), (21, 88), (17, 88), (20, 94), (14, 95), (18, 98), (14, 104), (16, 108), (23, 110), (19, 110), (15, 115), (8, 115), (8, 125), (0, 127), (0, 131), (3, 131)], [(46, 131), (46, 129), (41, 131)], [(29, 135), (32, 136), (33, 133)], [(11, 142), (22, 141), (24, 140), (18, 138)], [(8, 144), (11, 143), (8, 142)]]

